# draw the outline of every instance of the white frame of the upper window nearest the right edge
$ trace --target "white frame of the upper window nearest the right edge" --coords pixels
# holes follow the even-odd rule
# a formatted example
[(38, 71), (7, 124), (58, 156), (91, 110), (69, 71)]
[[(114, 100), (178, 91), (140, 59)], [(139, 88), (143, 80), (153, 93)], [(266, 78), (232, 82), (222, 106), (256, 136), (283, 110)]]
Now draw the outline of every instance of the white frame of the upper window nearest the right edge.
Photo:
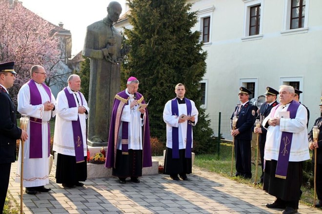
[(291, 22), (291, 3), (292, 0), (284, 0), (284, 13), (283, 13), (283, 25), (281, 35), (293, 35), (293, 34), (303, 34), (308, 32), (308, 16), (309, 16), (309, 3), (310, 0), (305, 1), (305, 18), (304, 26), (302, 28), (290, 29)]

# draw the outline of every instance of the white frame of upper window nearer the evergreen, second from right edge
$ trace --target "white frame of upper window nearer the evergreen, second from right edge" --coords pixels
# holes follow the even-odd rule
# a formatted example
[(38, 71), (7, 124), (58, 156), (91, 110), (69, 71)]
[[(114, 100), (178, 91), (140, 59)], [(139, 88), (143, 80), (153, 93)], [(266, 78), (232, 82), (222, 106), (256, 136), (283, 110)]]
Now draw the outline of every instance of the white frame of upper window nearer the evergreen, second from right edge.
[[(244, 23), (243, 23), (243, 33), (241, 40), (242, 41), (251, 41), (262, 39), (262, 25), (263, 25), (263, 11), (264, 11), (264, 0), (243, 0), (244, 5)], [(250, 8), (256, 5), (261, 4), (261, 20), (260, 20), (260, 32), (258, 35), (249, 36), (249, 21), (250, 21)]]

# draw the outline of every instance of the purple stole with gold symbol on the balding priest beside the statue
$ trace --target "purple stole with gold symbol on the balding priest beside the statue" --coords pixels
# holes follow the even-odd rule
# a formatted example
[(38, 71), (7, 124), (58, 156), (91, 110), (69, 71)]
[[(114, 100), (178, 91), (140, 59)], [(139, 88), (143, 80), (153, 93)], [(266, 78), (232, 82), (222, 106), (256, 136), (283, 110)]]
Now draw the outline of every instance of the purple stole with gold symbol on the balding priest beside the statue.
[[(67, 98), (68, 107), (77, 107), (75, 98), (73, 93), (69, 93), (67, 87), (64, 88), (64, 92)], [(81, 98), (80, 92), (78, 92), (80, 95), (80, 101), (81, 105), (83, 105), (83, 99)], [(76, 157), (76, 163), (84, 162), (84, 151), (83, 151), (83, 136), (81, 133), (81, 127), (80, 127), (80, 117), (77, 114), (77, 121), (72, 121), (72, 127), (73, 127), (73, 136), (74, 136), (74, 148), (75, 148), (75, 157)]]

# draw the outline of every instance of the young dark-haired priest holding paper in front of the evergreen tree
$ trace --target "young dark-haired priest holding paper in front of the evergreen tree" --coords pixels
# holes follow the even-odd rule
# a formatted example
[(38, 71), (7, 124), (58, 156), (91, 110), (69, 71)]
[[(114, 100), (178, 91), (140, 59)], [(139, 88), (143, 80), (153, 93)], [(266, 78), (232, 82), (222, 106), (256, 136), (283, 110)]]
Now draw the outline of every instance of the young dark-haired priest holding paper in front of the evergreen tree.
[[(182, 180), (188, 180), (186, 174), (192, 172), (192, 126), (198, 122), (198, 109), (192, 100), (184, 97), (183, 84), (176, 85), (175, 93), (177, 97), (169, 100), (163, 110), (163, 121), (166, 123), (164, 174), (180, 180), (179, 174)], [(181, 118), (182, 114), (190, 118)]]

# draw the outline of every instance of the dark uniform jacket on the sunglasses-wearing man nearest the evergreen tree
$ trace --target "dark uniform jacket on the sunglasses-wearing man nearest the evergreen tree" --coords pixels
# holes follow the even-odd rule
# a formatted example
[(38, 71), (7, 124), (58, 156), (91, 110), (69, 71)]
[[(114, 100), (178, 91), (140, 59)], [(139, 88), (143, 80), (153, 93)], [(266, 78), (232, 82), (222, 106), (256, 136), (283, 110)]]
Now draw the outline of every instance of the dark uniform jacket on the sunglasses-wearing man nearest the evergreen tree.
[(249, 101), (241, 107), (241, 109), (238, 111), (238, 108), (242, 104), (238, 104), (235, 107), (234, 113), (231, 116), (231, 120), (233, 117), (238, 117), (236, 129), (239, 130), (239, 134), (235, 136), (235, 139), (238, 140), (252, 140), (252, 126), (255, 123), (255, 115), (256, 115), (256, 107), (254, 107)]

